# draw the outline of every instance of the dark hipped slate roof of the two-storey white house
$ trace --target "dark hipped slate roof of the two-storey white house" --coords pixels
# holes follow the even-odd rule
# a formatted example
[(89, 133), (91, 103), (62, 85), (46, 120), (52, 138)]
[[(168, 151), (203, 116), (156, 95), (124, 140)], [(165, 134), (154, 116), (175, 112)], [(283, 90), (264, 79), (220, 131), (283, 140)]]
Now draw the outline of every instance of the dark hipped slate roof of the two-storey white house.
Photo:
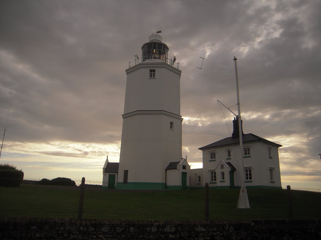
[[(271, 144), (271, 145), (274, 145), (276, 147), (282, 147), (282, 145), (280, 144), (277, 144), (275, 142), (271, 142), (269, 140), (266, 140), (264, 138), (261, 138), (259, 136), (256, 136), (254, 135), (253, 133), (247, 133), (247, 134), (244, 134), (242, 136), (242, 140), (243, 140), (243, 144), (245, 142), (254, 142), (254, 141), (261, 141), (261, 142), (265, 142), (267, 144)], [(213, 142), (209, 145), (206, 145), (204, 147), (201, 147), (201, 148), (198, 148), (200, 150), (203, 150), (205, 148), (214, 148), (214, 147), (221, 147), (221, 146), (226, 146), (226, 145), (234, 145), (234, 144), (239, 144), (240, 143), (240, 140), (239, 140), (239, 137), (236, 137), (236, 138), (232, 138), (232, 137), (228, 137), (228, 138), (224, 138), (222, 140), (219, 140), (217, 142)]]

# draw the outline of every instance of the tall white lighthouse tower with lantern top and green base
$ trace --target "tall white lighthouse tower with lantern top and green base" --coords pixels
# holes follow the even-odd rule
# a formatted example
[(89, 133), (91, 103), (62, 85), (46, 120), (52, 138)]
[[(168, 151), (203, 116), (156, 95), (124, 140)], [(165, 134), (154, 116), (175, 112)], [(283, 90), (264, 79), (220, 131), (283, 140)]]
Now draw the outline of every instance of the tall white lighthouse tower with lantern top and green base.
[(153, 34), (126, 69), (118, 189), (164, 189), (165, 169), (182, 161), (181, 71), (168, 50)]

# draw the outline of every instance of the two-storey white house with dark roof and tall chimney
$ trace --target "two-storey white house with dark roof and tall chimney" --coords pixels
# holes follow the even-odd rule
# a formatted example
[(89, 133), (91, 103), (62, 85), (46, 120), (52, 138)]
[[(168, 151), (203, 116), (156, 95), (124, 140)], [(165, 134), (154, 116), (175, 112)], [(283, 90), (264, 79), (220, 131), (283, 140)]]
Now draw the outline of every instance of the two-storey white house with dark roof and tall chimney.
[[(281, 187), (278, 148), (282, 145), (252, 133), (242, 134), (244, 167), (238, 165), (242, 163), (238, 119), (233, 120), (232, 137), (198, 148), (203, 152), (203, 184), (209, 183), (212, 187), (241, 186), (240, 174), (244, 174), (245, 186)], [(191, 170), (191, 175), (194, 173)]]

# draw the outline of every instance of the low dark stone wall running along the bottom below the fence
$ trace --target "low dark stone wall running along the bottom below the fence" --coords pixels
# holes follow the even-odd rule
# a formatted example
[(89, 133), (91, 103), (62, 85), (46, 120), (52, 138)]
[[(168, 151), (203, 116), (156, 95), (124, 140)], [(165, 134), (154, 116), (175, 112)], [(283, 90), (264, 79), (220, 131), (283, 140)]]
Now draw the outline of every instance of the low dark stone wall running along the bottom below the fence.
[(0, 218), (0, 239), (321, 239), (319, 220), (113, 221)]

